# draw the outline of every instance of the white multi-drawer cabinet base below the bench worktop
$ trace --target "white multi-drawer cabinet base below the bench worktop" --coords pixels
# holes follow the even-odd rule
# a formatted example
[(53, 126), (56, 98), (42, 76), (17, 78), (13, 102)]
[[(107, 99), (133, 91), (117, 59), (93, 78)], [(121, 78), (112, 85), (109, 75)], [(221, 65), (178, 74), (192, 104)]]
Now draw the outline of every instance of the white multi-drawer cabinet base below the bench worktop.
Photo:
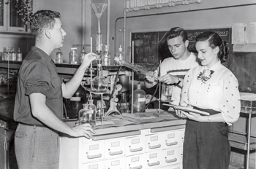
[[(61, 137), (60, 168), (181, 168), (184, 128), (140, 130), (138, 135), (88, 140)], [(71, 149), (69, 147), (71, 146)]]

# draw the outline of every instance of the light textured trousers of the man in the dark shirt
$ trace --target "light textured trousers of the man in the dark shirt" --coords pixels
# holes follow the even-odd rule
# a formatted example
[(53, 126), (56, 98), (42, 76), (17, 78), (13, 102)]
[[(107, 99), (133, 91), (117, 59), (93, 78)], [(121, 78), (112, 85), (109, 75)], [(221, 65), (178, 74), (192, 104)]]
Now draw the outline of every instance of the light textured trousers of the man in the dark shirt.
[(15, 154), (19, 169), (59, 168), (59, 134), (48, 127), (18, 124)]

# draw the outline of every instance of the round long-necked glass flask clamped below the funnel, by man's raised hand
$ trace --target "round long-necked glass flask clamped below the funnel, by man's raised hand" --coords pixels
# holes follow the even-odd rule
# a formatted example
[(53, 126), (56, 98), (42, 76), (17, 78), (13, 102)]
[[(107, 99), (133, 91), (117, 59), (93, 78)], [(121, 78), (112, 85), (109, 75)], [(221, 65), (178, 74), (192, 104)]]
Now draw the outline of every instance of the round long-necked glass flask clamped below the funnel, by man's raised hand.
[(108, 79), (102, 76), (102, 65), (97, 65), (97, 76), (94, 77), (91, 81), (92, 91), (104, 93), (108, 90)]

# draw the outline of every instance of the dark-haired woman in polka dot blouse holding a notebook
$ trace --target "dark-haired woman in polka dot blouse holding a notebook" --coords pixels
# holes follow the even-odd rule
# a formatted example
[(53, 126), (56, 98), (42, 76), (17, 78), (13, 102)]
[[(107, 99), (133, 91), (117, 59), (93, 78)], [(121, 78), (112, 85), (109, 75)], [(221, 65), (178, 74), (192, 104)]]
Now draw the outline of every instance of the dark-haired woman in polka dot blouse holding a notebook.
[(230, 162), (227, 125), (236, 122), (241, 109), (238, 80), (220, 61), (227, 47), (218, 34), (203, 32), (196, 37), (195, 47), (202, 66), (187, 72), (181, 106), (192, 106), (210, 115), (176, 111), (187, 118), (183, 168), (226, 169)]

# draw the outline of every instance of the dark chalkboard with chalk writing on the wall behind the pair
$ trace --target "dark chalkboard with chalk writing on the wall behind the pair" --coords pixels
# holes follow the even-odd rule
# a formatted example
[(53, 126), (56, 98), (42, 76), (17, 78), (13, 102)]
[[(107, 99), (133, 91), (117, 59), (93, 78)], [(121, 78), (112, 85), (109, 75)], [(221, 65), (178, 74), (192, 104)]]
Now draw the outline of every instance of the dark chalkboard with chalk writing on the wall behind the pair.
[[(227, 42), (227, 47), (231, 49), (231, 28), (197, 29), (186, 31), (189, 39), (189, 51), (196, 52), (195, 37), (204, 31), (216, 32), (225, 42)], [(155, 64), (160, 63), (160, 60), (164, 60), (165, 58), (172, 56), (165, 41), (165, 34), (167, 34), (167, 31), (132, 33), (131, 42), (134, 42), (134, 52), (132, 52), (134, 55), (135, 65), (151, 71), (157, 68)], [(145, 76), (142, 74), (135, 74), (136, 80), (143, 80), (144, 77)]]

